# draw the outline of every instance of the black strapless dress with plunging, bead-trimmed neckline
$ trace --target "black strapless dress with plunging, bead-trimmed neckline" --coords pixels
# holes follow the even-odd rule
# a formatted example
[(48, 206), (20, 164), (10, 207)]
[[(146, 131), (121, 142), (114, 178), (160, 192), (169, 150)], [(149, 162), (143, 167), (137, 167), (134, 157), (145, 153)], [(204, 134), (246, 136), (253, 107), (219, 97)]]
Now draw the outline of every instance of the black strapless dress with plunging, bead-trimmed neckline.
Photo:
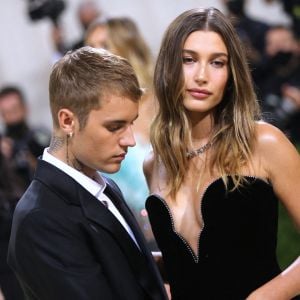
[[(279, 272), (276, 259), (278, 200), (266, 181), (246, 176), (231, 191), (217, 178), (201, 199), (203, 229), (198, 253), (176, 232), (167, 202), (146, 201), (152, 230), (162, 251), (172, 299), (245, 299)], [(195, 296), (197, 295), (197, 298)]]

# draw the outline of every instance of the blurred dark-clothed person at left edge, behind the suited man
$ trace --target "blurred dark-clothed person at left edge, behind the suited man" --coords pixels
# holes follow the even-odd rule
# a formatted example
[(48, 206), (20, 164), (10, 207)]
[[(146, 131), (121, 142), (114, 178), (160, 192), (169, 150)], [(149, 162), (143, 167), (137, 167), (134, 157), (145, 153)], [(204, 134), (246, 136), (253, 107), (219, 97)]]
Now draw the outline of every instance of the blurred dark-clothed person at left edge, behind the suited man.
[(22, 290), (6, 262), (14, 208), (30, 184), (37, 157), (49, 145), (50, 133), (28, 122), (28, 105), (21, 89), (0, 89), (0, 287), (6, 300), (23, 299)]

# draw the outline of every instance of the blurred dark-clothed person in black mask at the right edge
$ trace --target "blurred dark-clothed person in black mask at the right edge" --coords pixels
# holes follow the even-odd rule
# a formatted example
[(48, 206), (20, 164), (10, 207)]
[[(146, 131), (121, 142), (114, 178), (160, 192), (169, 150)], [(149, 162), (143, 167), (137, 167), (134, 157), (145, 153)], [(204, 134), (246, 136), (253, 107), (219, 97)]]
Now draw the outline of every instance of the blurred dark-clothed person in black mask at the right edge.
[(266, 118), (300, 143), (300, 44), (289, 27), (272, 26), (266, 34), (264, 63), (257, 81)]

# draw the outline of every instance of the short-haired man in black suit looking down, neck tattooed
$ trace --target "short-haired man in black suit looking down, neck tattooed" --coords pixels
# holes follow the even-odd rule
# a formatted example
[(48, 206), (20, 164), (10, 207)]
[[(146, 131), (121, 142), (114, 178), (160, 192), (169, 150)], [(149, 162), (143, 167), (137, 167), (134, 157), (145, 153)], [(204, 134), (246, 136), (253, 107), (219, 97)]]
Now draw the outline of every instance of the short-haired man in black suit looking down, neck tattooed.
[[(141, 90), (129, 63), (83, 47), (53, 67), (53, 134), (14, 214), (8, 262), (27, 299), (166, 299), (118, 187)], [(107, 207), (106, 207), (107, 206)]]

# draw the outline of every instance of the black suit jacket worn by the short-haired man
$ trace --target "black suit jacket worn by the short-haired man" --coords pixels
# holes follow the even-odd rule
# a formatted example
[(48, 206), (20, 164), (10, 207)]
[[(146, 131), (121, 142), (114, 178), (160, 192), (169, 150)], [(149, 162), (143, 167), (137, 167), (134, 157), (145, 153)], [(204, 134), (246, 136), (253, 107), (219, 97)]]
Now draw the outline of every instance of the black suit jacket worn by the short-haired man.
[(98, 199), (39, 160), (35, 178), (15, 210), (8, 253), (27, 299), (167, 299), (119, 189), (109, 180), (106, 191), (140, 249)]

